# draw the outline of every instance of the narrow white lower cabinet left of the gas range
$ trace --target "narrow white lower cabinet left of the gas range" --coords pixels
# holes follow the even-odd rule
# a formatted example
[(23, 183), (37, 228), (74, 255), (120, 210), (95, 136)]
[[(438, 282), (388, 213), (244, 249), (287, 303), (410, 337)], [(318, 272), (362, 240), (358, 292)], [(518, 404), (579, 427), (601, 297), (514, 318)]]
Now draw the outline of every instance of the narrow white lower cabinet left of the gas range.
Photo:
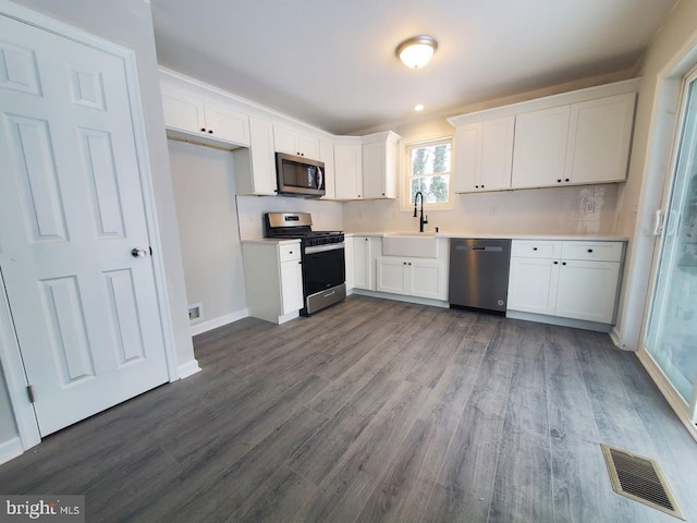
[(296, 318), (303, 308), (299, 241), (243, 243), (249, 315), (274, 324)]

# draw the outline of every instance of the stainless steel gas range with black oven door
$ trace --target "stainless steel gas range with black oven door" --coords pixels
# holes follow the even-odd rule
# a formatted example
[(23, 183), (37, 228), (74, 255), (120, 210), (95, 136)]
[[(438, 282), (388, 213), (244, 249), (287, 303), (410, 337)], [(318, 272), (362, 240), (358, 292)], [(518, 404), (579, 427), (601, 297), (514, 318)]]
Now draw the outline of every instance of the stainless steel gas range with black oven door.
[(346, 265), (342, 231), (313, 231), (309, 212), (267, 212), (266, 238), (299, 239), (303, 264), (301, 315), (309, 316), (346, 297)]

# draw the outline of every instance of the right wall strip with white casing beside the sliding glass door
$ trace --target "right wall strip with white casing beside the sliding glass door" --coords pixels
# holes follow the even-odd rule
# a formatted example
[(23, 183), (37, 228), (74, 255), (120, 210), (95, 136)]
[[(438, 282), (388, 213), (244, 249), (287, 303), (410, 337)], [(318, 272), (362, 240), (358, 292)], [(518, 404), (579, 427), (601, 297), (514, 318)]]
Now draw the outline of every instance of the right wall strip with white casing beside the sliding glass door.
[(633, 242), (614, 336), (615, 342), (627, 350), (636, 350), (639, 344), (657, 243), (651, 234), (652, 218), (662, 206), (670, 175), (681, 81), (695, 64), (697, 0), (681, 0), (663, 21), (644, 60), (629, 178), (619, 195), (616, 231), (632, 235)]

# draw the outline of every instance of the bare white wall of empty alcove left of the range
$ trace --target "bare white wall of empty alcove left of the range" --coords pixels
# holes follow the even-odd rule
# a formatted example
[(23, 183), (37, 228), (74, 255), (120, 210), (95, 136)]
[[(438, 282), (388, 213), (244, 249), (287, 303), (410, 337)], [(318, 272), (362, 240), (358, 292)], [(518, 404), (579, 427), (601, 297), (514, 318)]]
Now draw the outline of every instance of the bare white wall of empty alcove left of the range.
[(247, 315), (232, 153), (169, 141), (188, 303), (204, 325)]

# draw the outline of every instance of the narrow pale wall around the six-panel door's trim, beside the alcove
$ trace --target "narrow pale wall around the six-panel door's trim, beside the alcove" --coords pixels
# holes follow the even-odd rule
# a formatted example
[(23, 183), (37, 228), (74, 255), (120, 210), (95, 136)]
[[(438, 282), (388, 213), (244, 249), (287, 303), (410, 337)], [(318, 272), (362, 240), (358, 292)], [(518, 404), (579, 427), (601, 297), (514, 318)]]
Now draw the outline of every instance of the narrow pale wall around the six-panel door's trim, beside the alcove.
[(194, 349), (186, 311), (184, 267), (179, 243), (176, 211), (164, 136), (152, 15), (148, 0), (17, 0), (15, 3), (81, 27), (88, 33), (133, 49), (138, 81), (148, 155), (152, 172), (157, 218), (171, 308), (176, 365), (195, 365)]

